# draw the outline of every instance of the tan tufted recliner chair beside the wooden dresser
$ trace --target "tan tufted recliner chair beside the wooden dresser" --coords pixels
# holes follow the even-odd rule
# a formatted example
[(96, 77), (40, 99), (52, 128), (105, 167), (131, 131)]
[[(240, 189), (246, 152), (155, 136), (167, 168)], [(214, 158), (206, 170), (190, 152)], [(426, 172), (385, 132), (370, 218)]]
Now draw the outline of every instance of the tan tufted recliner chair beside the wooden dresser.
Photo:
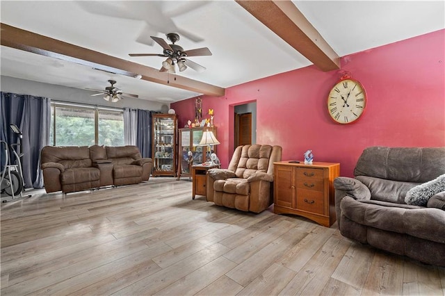
[(207, 201), (241, 211), (260, 213), (273, 204), (273, 163), (282, 147), (238, 146), (228, 169), (207, 172)]

